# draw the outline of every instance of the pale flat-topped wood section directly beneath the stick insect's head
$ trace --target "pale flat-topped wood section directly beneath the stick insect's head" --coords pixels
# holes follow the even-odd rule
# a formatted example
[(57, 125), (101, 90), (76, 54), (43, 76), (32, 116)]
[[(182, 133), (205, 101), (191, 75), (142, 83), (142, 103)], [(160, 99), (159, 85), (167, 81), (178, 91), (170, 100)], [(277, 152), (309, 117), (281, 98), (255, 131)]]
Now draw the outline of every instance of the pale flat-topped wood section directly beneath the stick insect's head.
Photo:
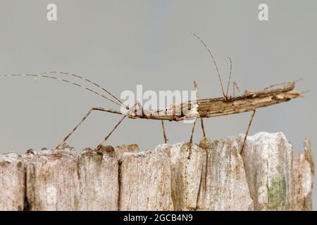
[(173, 210), (169, 153), (123, 153), (120, 210)]

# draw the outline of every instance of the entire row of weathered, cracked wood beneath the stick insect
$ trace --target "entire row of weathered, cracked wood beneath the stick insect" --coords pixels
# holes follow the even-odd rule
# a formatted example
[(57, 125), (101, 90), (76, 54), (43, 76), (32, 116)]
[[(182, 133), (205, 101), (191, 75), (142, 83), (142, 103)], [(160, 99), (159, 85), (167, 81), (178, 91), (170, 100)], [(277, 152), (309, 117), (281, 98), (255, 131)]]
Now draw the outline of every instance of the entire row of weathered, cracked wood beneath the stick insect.
[(0, 210), (311, 210), (309, 140), (293, 155), (284, 134), (199, 145), (137, 145), (0, 155)]

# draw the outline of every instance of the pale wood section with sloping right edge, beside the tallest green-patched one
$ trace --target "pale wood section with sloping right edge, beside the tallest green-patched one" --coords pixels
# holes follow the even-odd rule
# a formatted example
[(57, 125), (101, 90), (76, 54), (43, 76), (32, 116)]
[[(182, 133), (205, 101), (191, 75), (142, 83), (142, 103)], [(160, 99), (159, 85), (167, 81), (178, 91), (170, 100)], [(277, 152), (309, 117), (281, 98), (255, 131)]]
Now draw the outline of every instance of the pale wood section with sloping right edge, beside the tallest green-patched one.
[(206, 191), (202, 210), (253, 210), (244, 165), (226, 141), (203, 141), (207, 151)]

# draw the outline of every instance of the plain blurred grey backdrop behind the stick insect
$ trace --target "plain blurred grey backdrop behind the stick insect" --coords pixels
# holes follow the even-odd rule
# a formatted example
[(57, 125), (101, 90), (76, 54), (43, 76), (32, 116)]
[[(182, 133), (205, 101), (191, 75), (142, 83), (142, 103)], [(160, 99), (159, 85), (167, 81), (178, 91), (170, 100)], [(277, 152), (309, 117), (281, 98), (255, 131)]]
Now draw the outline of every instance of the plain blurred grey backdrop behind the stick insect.
[[(269, 21), (258, 6), (269, 6)], [(58, 6), (58, 21), (46, 20), (46, 5)], [(0, 1), (0, 74), (61, 70), (87, 75), (116, 96), (121, 91), (192, 90), (221, 96), (216, 70), (203, 46), (211, 47), (223, 79), (227, 56), (240, 89), (304, 78), (304, 99), (261, 108), (250, 134), (283, 131), (303, 149), (316, 148), (317, 1)], [(1, 78), (0, 152), (54, 147), (92, 106), (116, 108), (103, 98), (50, 79)], [(205, 120), (211, 139), (243, 133), (249, 113)], [(69, 143), (96, 146), (120, 119), (93, 113)], [(170, 142), (187, 141), (191, 125), (166, 124)], [(195, 141), (201, 138), (201, 131)], [(160, 122), (125, 120), (111, 136), (113, 146), (136, 142), (142, 150), (163, 142)], [(315, 188), (316, 190), (316, 188)], [(314, 193), (315, 205), (317, 193)], [(316, 207), (315, 207), (316, 209)]]

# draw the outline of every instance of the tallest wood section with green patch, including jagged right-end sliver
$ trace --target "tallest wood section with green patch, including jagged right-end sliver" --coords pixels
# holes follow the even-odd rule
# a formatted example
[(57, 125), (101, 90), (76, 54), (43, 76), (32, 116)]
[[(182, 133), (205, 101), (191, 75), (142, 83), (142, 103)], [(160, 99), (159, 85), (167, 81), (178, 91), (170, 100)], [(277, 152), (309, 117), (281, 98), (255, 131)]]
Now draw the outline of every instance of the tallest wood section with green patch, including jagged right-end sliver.
[[(228, 142), (241, 150), (243, 139), (240, 135)], [(242, 158), (254, 210), (312, 210), (303, 200), (311, 198), (313, 187), (310, 147), (293, 157), (292, 144), (284, 134), (260, 132), (247, 137)]]

